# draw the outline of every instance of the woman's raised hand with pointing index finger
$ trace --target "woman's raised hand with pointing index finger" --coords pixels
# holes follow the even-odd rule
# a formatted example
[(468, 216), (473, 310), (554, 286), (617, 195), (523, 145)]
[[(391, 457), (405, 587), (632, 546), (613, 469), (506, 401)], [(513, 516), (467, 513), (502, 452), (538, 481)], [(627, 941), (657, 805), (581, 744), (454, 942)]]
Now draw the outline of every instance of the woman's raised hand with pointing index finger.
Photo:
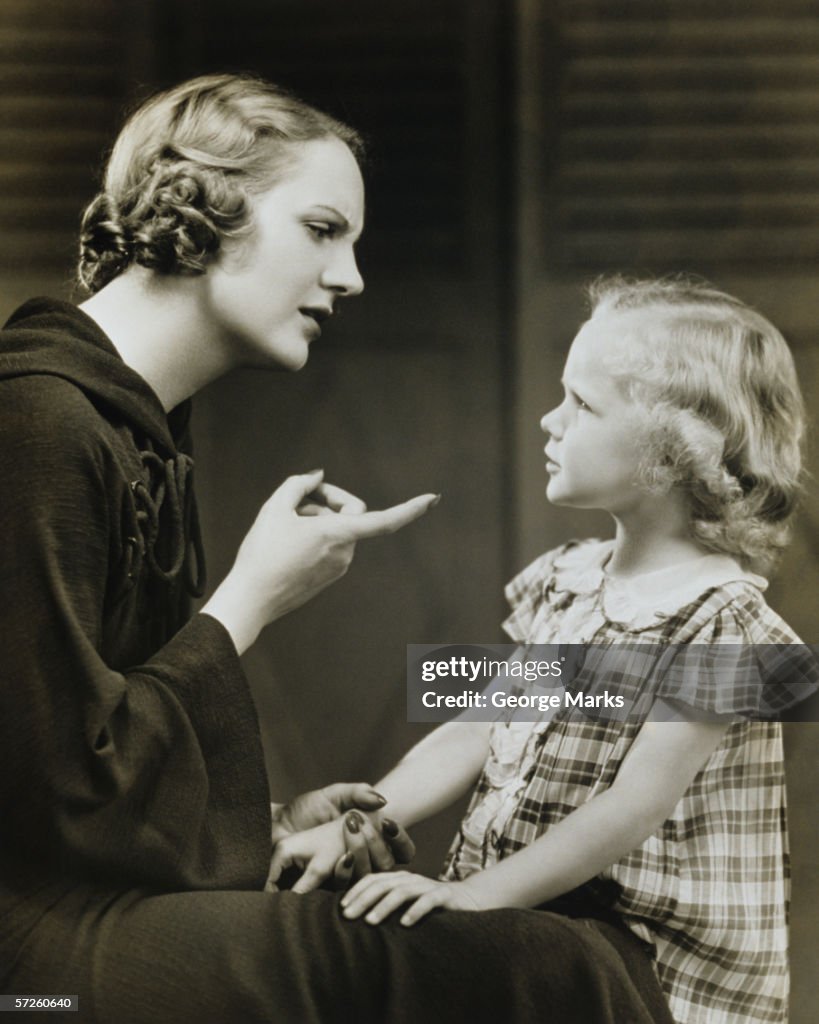
[(358, 541), (392, 534), (437, 504), (422, 495), (381, 512), (324, 482), (316, 470), (291, 476), (265, 502), (236, 560), (202, 609), (244, 653), (261, 630), (343, 575)]

